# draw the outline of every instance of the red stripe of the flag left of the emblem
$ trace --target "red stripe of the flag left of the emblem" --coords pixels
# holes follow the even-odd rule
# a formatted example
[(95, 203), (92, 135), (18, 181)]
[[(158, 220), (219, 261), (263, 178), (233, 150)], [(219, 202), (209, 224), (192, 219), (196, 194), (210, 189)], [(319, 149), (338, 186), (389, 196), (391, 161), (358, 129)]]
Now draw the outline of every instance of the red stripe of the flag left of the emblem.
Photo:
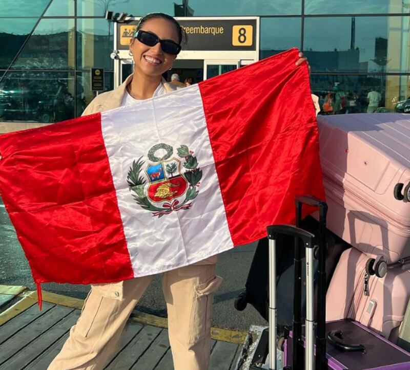
[(133, 277), (100, 120), (2, 135), (2, 198), (36, 282)]

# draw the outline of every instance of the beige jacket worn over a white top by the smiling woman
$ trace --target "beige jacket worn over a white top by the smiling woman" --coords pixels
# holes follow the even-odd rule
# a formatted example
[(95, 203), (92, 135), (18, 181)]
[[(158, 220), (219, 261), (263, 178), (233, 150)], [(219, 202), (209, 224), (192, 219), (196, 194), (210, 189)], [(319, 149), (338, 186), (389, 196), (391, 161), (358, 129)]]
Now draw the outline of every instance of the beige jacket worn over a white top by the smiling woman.
[[(107, 91), (106, 93), (97, 95), (84, 110), (82, 116), (98, 112), (105, 112), (109, 111), (110, 109), (119, 107), (121, 105), (124, 94), (126, 94), (126, 86), (131, 81), (131, 79), (132, 75), (128, 76), (127, 79), (115, 90)], [(162, 79), (162, 83), (167, 93), (181, 89), (174, 84), (167, 82), (165, 79)], [(218, 255), (215, 255), (199, 261), (194, 265), (213, 265), (216, 264), (217, 260)], [(110, 284), (95, 284), (94, 286), (98, 287), (98, 291), (106, 297), (122, 299), (124, 291), (124, 281), (113, 282)]]

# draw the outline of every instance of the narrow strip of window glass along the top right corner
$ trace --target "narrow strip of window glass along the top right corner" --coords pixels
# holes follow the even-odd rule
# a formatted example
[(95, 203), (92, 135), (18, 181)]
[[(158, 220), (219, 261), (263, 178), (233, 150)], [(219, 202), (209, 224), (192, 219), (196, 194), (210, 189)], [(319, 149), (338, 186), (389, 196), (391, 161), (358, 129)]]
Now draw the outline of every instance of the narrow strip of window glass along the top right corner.
[(409, 0), (344, 0), (343, 3), (329, 0), (305, 0), (305, 14), (377, 14), (409, 13)]

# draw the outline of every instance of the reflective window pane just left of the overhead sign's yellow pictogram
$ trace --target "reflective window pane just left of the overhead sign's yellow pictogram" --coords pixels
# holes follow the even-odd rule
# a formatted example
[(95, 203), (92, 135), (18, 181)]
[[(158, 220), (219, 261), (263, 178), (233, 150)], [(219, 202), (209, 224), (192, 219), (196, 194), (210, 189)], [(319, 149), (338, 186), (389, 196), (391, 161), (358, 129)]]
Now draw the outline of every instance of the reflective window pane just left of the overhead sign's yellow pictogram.
[(113, 23), (106, 19), (77, 20), (77, 68), (113, 69)]

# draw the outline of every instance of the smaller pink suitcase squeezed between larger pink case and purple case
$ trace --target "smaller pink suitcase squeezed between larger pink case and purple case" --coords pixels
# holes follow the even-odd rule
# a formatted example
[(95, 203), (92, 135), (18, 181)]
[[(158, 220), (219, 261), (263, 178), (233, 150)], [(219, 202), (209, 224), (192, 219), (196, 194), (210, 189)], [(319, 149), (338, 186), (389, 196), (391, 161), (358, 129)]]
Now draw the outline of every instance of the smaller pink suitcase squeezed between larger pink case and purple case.
[(410, 266), (397, 263), (382, 278), (370, 276), (366, 296), (368, 259), (355, 248), (342, 253), (326, 294), (326, 322), (351, 318), (396, 342), (410, 296)]

